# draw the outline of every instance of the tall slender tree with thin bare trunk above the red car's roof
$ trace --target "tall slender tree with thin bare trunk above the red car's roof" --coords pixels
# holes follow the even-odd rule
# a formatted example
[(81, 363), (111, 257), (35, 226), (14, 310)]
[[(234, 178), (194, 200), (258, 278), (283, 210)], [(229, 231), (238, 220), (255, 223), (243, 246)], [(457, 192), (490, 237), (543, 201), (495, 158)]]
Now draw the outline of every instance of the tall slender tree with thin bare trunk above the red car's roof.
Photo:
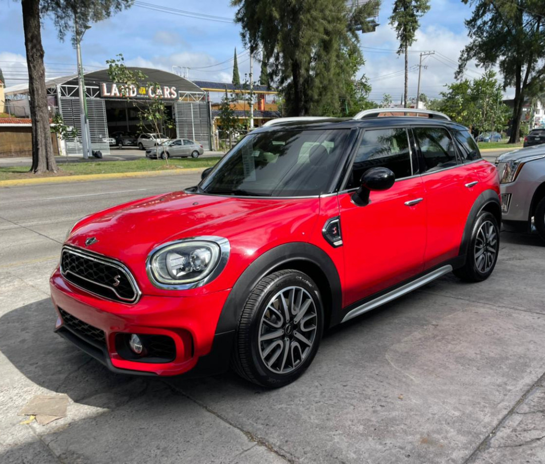
[(416, 30), (420, 27), (419, 19), (429, 10), (429, 0), (396, 0), (393, 4), (390, 25), (396, 29), (399, 48), (397, 54), (405, 54), (405, 93), (403, 106), (407, 108), (409, 90), (409, 53), (408, 48), (415, 41)]

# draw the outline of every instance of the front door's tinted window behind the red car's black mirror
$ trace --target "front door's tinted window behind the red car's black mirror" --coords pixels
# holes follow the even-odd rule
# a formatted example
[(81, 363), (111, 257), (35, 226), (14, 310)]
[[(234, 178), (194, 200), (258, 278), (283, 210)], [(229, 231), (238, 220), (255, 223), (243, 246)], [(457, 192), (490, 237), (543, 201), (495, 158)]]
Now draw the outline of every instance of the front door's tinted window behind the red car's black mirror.
[(405, 129), (365, 131), (354, 159), (347, 188), (358, 187), (361, 176), (368, 169), (377, 167), (391, 169), (396, 179), (413, 175), (409, 139)]

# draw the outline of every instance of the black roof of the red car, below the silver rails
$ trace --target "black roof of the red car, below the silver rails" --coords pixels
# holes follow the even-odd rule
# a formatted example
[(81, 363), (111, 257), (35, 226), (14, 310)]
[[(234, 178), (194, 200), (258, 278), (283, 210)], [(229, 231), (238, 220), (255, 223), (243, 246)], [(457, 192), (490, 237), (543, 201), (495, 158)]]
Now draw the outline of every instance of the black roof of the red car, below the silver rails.
[(449, 121), (439, 118), (425, 118), (415, 116), (380, 116), (377, 118), (365, 118), (365, 119), (348, 119), (348, 118), (324, 118), (300, 121), (286, 121), (285, 123), (272, 124), (270, 126), (262, 126), (252, 131), (252, 133), (258, 132), (270, 132), (280, 131), (286, 129), (352, 129), (354, 127), (361, 127), (362, 129), (367, 127), (405, 127), (405, 126), (444, 126), (449, 127), (455, 131), (466, 131), (467, 127), (456, 123), (455, 121)]

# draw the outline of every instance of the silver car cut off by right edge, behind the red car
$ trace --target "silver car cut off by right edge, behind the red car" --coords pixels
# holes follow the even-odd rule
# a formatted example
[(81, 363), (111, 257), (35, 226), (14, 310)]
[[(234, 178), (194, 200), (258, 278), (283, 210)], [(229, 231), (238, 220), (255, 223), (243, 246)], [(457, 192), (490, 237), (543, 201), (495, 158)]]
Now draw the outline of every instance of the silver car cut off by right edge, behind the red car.
[(545, 241), (545, 145), (496, 158), (506, 230), (531, 232), (532, 221)]

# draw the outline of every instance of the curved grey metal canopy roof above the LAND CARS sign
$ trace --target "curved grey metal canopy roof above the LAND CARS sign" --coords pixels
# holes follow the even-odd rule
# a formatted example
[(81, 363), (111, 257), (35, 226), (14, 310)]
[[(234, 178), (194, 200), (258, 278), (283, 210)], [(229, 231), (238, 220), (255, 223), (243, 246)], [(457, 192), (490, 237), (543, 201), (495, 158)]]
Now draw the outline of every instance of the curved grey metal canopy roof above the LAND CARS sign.
[[(184, 92), (198, 92), (203, 93), (203, 89), (196, 86), (193, 82), (184, 79), (183, 77), (173, 74), (172, 72), (162, 71), (160, 69), (152, 68), (135, 68), (128, 66), (128, 69), (141, 71), (143, 74), (148, 76), (146, 82), (158, 82), (162, 86), (175, 86), (178, 90)], [(107, 69), (101, 69), (99, 71), (90, 71), (85, 73), (85, 84), (86, 86), (98, 85), (102, 82), (112, 82), (108, 76)], [(145, 82), (143, 82), (145, 83)], [(45, 81), (46, 88), (51, 88), (57, 86), (58, 84), (69, 84), (77, 85), (77, 74), (72, 74), (70, 76), (61, 76), (55, 77), (52, 79), (47, 79)], [(27, 94), (28, 93), (28, 83), (17, 84), (16, 86), (11, 86), (5, 89), (6, 95), (16, 95), (16, 94)]]

